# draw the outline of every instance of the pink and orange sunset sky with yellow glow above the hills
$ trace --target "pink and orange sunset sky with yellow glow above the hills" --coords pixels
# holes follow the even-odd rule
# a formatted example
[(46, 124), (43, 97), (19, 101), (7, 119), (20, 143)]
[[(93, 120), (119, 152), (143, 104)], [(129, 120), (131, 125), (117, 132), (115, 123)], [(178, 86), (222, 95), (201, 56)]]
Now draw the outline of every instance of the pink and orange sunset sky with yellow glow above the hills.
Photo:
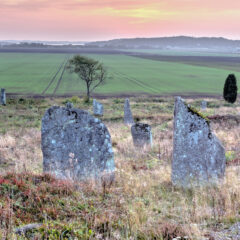
[(240, 39), (239, 0), (0, 0), (0, 39)]

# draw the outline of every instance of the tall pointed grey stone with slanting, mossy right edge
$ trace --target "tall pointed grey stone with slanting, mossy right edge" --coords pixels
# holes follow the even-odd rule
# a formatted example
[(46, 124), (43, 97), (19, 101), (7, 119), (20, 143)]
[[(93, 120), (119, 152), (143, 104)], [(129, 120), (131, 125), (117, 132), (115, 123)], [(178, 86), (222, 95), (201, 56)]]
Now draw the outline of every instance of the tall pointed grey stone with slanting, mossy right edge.
[(225, 174), (225, 150), (209, 120), (175, 98), (172, 182), (190, 187), (217, 183)]

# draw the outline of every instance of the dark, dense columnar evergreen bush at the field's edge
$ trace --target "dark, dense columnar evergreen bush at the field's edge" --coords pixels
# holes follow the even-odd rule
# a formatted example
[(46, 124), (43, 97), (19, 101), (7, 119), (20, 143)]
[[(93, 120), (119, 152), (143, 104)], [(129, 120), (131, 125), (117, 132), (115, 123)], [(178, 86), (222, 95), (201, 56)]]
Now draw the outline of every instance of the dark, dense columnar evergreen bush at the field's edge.
[(225, 81), (223, 97), (229, 103), (234, 103), (237, 99), (237, 80), (234, 74), (229, 74)]

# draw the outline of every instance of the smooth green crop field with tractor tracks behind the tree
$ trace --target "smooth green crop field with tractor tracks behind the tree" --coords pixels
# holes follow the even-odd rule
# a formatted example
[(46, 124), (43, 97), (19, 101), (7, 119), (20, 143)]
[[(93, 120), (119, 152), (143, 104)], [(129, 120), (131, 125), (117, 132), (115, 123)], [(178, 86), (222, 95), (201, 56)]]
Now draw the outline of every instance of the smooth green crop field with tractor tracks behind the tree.
[[(222, 94), (229, 73), (240, 77), (240, 64), (158, 61), (125, 54), (88, 54), (103, 62), (109, 72), (98, 94)], [(7, 92), (41, 95), (76, 95), (85, 86), (64, 69), (68, 54), (0, 53), (0, 87)]]

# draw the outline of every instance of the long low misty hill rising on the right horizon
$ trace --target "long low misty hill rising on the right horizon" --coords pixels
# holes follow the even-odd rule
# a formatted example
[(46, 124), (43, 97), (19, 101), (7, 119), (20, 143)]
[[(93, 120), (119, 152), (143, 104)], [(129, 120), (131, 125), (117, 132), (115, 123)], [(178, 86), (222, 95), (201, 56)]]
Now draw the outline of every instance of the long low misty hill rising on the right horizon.
[(198, 50), (240, 50), (240, 40), (209, 37), (160, 37), (160, 38), (130, 38), (109, 41), (91, 42), (85, 46), (125, 49), (198, 49)]

